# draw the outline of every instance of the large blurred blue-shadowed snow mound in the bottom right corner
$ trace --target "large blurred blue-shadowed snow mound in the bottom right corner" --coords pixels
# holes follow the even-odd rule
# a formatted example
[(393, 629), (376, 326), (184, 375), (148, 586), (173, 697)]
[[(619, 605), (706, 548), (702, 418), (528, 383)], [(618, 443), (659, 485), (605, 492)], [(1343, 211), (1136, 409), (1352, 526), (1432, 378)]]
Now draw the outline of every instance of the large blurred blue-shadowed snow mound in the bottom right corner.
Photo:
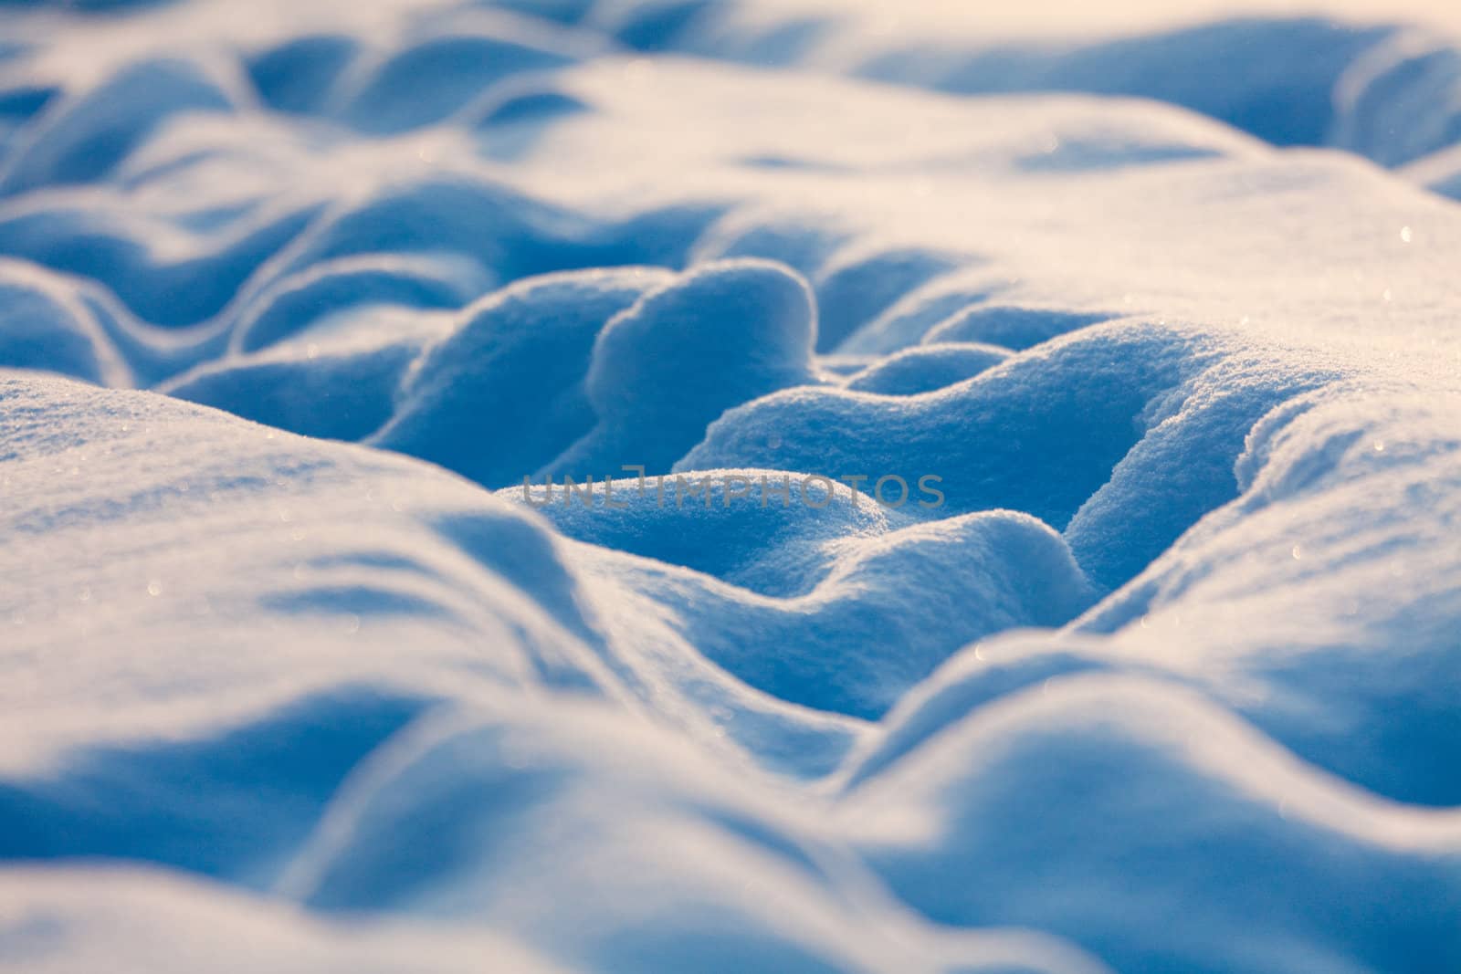
[[(1110, 831), (1067, 831), (1072, 803)], [(926, 916), (1055, 929), (1122, 970), (1343, 970), (1353, 958), (1442, 970), (1461, 958), (1445, 905), (1461, 882), (1461, 818), (1306, 771), (1160, 685), (1049, 680), (954, 724), (852, 791), (840, 815)], [(1201, 908), (1134, 942), (1131, 917), (1175, 900)], [(1351, 910), (1363, 924), (1344, 920)]]

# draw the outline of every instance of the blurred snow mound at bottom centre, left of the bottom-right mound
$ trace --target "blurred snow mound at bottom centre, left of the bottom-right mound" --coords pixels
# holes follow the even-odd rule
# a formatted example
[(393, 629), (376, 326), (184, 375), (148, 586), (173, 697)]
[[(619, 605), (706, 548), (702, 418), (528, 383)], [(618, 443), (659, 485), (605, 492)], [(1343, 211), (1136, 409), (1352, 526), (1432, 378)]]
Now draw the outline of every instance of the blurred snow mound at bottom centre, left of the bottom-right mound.
[[(812, 819), (646, 730), (595, 713), (422, 721), (342, 791), (283, 888), (326, 911), (487, 911), (554, 959), (609, 970), (1088, 967), (1037, 937), (909, 929)], [(828, 900), (833, 883), (846, 895)]]

